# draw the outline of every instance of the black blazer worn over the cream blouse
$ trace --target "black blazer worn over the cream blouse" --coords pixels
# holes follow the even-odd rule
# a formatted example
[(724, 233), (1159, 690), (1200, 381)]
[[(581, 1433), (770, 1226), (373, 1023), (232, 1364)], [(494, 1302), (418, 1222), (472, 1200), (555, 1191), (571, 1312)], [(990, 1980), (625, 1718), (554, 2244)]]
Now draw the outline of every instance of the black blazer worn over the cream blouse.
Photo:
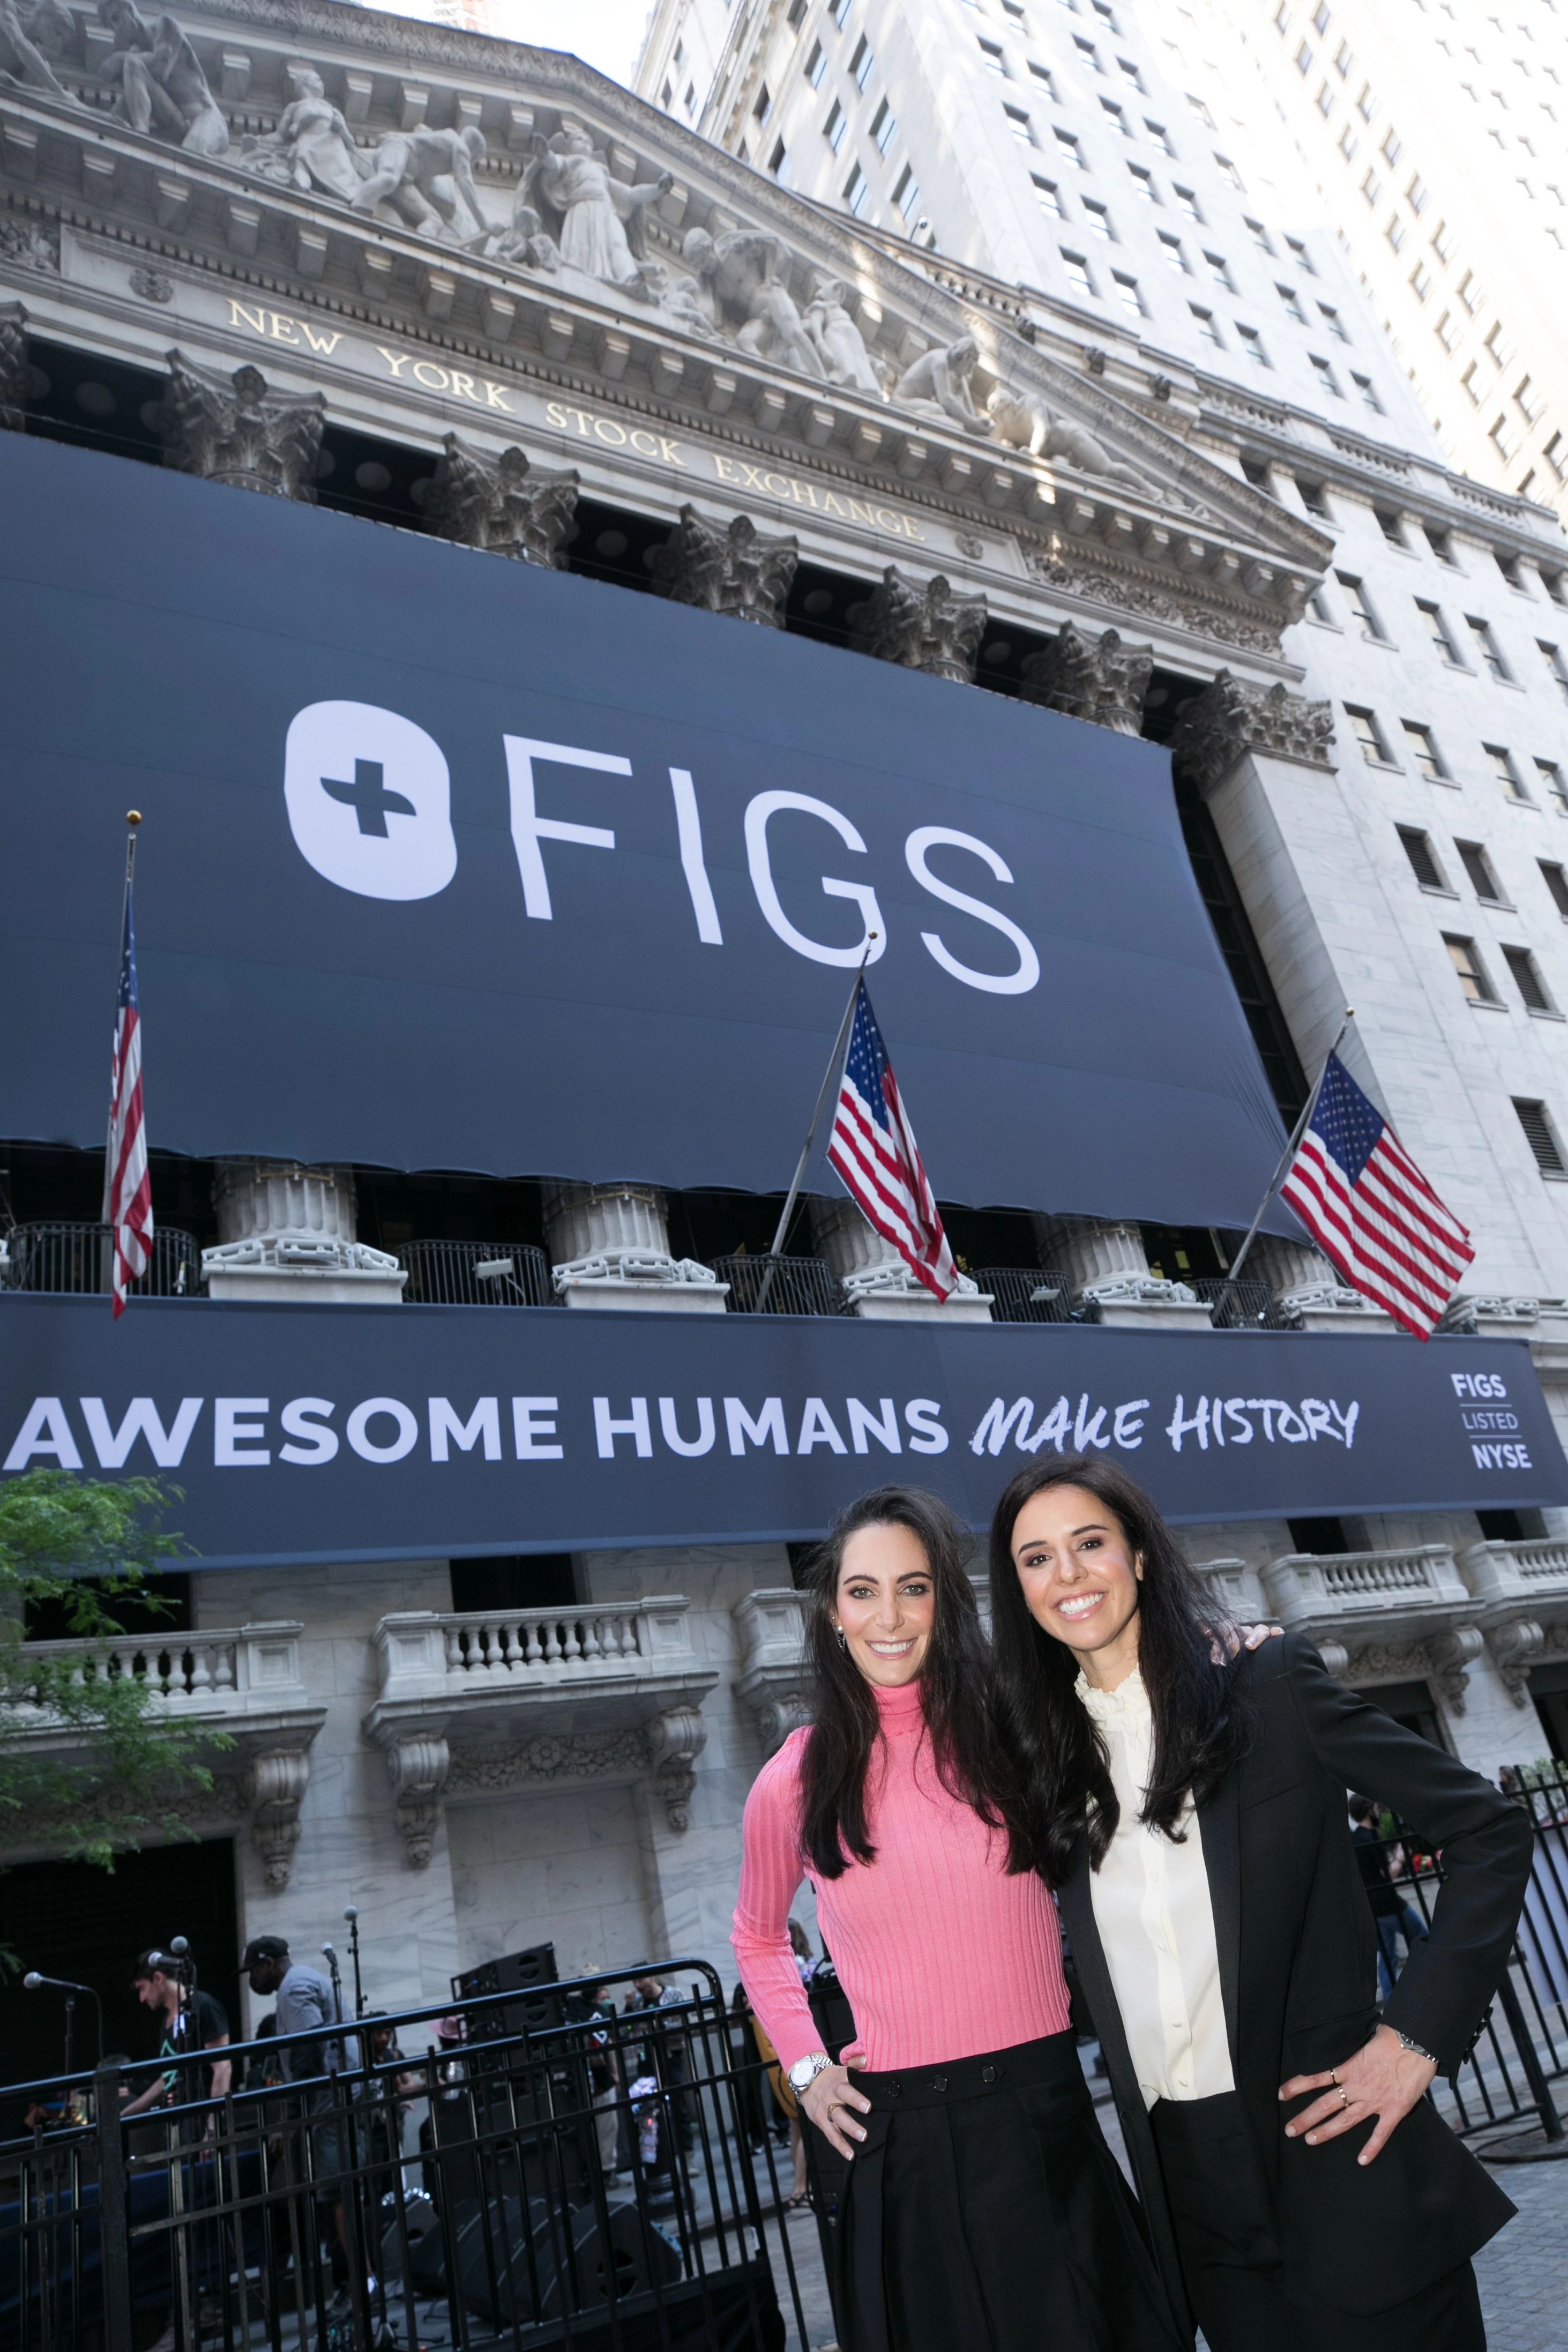
[[(1469, 2051), (1507, 1966), (1530, 1877), (1530, 1825), (1490, 1780), (1333, 1682), (1305, 1635), (1267, 1642), (1239, 1672), (1255, 1710), (1253, 1743), (1199, 1806), (1229, 2063), (1286, 2267), (1338, 2310), (1380, 2312), (1472, 2256), (1514, 2206), (1429, 2100), (1366, 2169), (1356, 2154), (1371, 2122), (1319, 2147), (1284, 2136), (1307, 2103), (1284, 2107), (1281, 2082), (1349, 2058), (1378, 2023), (1375, 1929), (1345, 1792), (1366, 1790), (1394, 1806), (1441, 1849), (1446, 1882), (1432, 1936), (1410, 1955), (1385, 2023), (1432, 2051), (1443, 2072)], [(1095, 1929), (1086, 1842), (1060, 1910), (1154, 2253), (1185, 2310), (1154, 2136)]]

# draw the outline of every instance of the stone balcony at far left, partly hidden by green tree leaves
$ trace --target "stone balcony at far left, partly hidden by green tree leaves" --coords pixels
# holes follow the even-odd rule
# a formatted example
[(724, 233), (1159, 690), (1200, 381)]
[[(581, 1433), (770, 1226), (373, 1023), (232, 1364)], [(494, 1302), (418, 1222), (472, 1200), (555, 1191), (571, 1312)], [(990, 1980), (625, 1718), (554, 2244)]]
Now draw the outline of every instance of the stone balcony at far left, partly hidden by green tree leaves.
[[(310, 1705), (301, 1682), (299, 1644), (306, 1628), (292, 1621), (235, 1625), (216, 1632), (127, 1635), (120, 1642), (28, 1642), (26, 1656), (75, 1658), (75, 1682), (134, 1675), (150, 1684), (153, 1722), (226, 1733), (212, 1748), (212, 1788), (179, 1802), (200, 1825), (249, 1823), (270, 1889), (289, 1884), (299, 1844), (299, 1806), (310, 1780), (310, 1743), (327, 1708)], [(45, 1708), (16, 1705), (7, 1738), (68, 1764), (80, 1736)]]

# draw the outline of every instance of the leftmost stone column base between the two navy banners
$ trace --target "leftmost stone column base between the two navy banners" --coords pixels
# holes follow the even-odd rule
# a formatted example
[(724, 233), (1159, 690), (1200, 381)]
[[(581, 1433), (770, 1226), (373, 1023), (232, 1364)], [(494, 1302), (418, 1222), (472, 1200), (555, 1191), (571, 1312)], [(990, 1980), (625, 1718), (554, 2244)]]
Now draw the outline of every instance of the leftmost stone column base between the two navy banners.
[(228, 1160), (212, 1185), (219, 1247), (202, 1251), (209, 1298), (397, 1305), (409, 1279), (386, 1249), (355, 1242), (350, 1169)]

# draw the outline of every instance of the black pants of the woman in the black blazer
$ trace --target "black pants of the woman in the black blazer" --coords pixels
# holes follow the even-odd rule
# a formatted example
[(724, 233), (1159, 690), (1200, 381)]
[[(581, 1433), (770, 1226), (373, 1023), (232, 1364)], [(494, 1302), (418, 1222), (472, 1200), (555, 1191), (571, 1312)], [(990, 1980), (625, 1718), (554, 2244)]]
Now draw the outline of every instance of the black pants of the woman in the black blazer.
[(1166, 2204), (1211, 2352), (1486, 2352), (1476, 2274), (1382, 2312), (1342, 2312), (1286, 2277), (1267, 2183), (1234, 2091), (1150, 2110)]

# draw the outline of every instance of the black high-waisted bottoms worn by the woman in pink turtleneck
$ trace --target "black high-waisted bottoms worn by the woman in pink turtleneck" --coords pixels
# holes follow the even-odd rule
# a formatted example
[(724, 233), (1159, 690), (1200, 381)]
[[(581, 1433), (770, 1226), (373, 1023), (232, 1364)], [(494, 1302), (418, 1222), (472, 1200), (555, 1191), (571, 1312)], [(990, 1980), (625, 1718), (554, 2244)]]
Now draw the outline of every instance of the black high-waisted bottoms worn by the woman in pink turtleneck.
[(1070, 2032), (851, 2082), (844, 2352), (1175, 2352)]

